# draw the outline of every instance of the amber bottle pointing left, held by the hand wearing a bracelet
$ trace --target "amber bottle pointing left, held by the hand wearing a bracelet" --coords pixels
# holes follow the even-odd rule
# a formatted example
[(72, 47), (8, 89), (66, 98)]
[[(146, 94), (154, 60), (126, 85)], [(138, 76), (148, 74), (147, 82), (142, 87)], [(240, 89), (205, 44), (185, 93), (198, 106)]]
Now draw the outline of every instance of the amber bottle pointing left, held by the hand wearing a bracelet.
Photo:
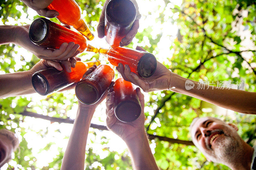
[(114, 66), (118, 66), (118, 63), (127, 64), (132, 72), (142, 78), (148, 78), (156, 71), (156, 57), (146, 51), (116, 47), (100, 48), (99, 53), (108, 57), (109, 63)]

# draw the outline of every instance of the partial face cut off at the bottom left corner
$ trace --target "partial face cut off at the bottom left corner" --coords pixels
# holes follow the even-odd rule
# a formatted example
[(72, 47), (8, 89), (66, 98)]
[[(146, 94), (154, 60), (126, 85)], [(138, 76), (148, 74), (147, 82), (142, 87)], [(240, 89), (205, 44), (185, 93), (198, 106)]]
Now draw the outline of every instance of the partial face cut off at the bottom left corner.
[(12, 159), (12, 142), (4, 135), (0, 134), (0, 167)]

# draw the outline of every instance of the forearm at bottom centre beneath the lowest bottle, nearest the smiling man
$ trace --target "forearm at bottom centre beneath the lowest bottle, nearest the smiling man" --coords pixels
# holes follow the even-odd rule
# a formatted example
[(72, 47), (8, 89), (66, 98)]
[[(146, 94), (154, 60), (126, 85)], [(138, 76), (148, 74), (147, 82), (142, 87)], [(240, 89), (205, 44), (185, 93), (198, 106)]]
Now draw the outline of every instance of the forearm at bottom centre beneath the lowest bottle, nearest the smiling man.
[(132, 166), (135, 170), (158, 169), (155, 158), (150, 150), (145, 130), (135, 133), (134, 137), (126, 140), (128, 150), (132, 156)]

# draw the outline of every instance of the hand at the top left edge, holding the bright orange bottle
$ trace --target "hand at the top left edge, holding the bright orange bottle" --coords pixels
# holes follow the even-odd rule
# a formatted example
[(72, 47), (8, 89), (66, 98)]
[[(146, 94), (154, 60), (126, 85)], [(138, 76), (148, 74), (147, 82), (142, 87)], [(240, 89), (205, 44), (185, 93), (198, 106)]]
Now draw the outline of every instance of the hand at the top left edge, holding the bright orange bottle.
[(24, 4), (26, 4), (28, 7), (35, 10), (41, 16), (44, 16), (47, 18), (54, 18), (60, 15), (58, 11), (46, 9), (46, 7), (52, 3), (52, 0), (21, 0), (21, 1)]

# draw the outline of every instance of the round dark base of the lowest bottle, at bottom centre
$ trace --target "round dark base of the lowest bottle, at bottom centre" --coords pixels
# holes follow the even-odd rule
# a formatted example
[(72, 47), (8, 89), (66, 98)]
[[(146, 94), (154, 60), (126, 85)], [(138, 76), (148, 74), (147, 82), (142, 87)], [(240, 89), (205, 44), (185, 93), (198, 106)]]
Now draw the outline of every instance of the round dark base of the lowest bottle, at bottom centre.
[[(139, 102), (126, 100), (119, 103), (114, 109), (116, 118), (121, 122), (132, 122), (138, 119), (141, 113)], [(125, 114), (124, 114), (125, 113)]]

